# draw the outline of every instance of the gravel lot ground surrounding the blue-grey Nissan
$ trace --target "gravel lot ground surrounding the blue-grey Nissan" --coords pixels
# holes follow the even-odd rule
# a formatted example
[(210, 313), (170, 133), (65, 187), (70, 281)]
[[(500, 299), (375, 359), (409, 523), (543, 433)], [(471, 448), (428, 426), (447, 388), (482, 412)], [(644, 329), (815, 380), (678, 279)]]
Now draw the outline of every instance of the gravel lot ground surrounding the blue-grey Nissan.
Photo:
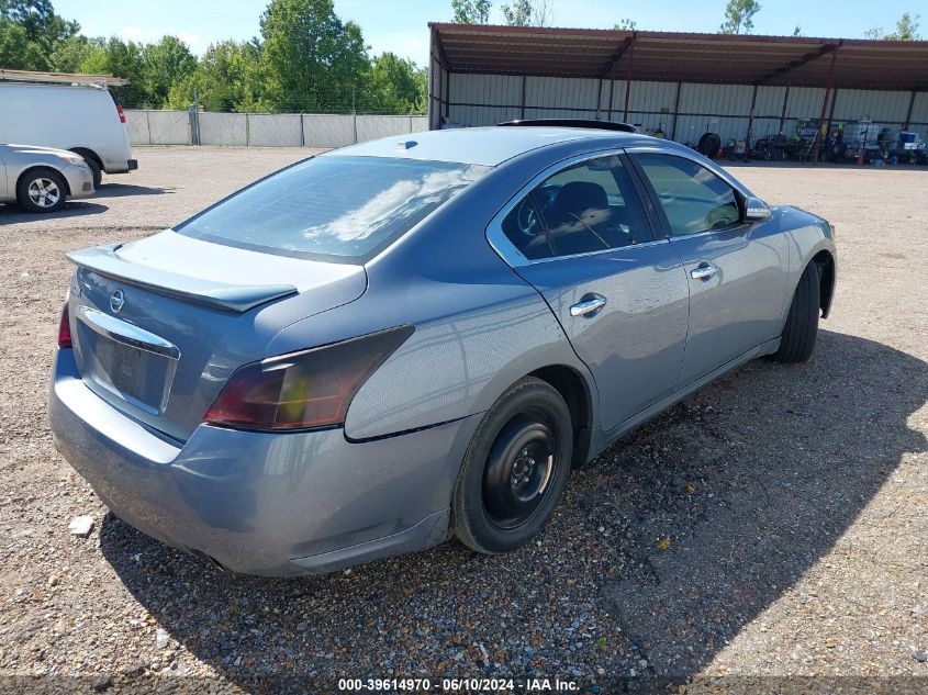
[[(928, 170), (737, 167), (837, 226), (813, 359), (750, 363), (625, 437), (573, 474), (529, 548), (448, 542), (265, 580), (135, 531), (52, 446), (63, 253), (150, 234), (306, 150), (136, 153), (137, 172), (58, 215), (0, 206), (0, 691), (451, 675), (601, 693), (928, 688)], [(68, 533), (83, 514), (86, 539)]]

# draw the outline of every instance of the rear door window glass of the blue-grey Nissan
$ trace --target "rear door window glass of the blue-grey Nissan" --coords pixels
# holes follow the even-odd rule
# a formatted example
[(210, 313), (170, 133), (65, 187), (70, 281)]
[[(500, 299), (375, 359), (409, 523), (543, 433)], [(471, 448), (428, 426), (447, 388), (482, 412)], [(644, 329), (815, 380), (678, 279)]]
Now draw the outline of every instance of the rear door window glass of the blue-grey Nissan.
[(617, 156), (584, 160), (545, 179), (506, 215), (503, 233), (529, 260), (652, 239), (638, 193)]

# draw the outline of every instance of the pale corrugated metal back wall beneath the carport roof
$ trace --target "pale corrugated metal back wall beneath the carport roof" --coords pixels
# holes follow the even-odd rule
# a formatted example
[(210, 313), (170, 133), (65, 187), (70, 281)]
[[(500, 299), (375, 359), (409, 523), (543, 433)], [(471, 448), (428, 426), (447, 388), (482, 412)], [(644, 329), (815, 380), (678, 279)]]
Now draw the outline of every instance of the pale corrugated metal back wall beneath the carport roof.
[[(440, 76), (440, 78), (436, 78)], [(622, 121), (642, 130), (662, 130), (679, 142), (695, 143), (707, 132), (723, 142), (743, 138), (754, 88), (749, 85), (600, 81), (504, 75), (447, 75), (433, 60), (433, 81), (440, 81), (443, 124), (492, 125), (518, 117), (575, 117)], [(679, 94), (678, 94), (679, 89)], [(784, 111), (784, 97), (786, 98)], [(825, 89), (759, 87), (752, 138), (782, 132), (793, 135), (798, 119), (818, 119)], [(832, 90), (825, 115), (835, 123), (870, 119), (899, 130), (913, 105), (909, 130), (928, 139), (928, 93)], [(627, 112), (626, 112), (627, 104)], [(832, 110), (834, 105), (834, 110)], [(432, 127), (439, 127), (433, 113)]]

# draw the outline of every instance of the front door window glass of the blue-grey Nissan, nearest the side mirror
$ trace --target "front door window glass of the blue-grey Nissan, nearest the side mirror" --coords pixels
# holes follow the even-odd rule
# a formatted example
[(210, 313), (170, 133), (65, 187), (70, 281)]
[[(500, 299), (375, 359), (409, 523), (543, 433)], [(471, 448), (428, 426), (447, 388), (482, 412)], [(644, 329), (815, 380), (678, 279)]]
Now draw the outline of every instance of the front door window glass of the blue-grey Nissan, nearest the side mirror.
[(705, 167), (683, 157), (635, 155), (660, 200), (672, 236), (724, 229), (738, 224), (735, 191)]

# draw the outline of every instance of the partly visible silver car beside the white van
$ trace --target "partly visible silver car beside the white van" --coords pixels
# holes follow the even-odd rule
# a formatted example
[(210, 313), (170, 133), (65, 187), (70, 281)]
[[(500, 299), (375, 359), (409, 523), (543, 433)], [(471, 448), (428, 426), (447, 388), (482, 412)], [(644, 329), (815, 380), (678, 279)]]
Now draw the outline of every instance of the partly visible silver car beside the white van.
[(68, 198), (93, 194), (93, 173), (83, 157), (66, 149), (0, 144), (0, 203), (27, 212), (55, 212)]

